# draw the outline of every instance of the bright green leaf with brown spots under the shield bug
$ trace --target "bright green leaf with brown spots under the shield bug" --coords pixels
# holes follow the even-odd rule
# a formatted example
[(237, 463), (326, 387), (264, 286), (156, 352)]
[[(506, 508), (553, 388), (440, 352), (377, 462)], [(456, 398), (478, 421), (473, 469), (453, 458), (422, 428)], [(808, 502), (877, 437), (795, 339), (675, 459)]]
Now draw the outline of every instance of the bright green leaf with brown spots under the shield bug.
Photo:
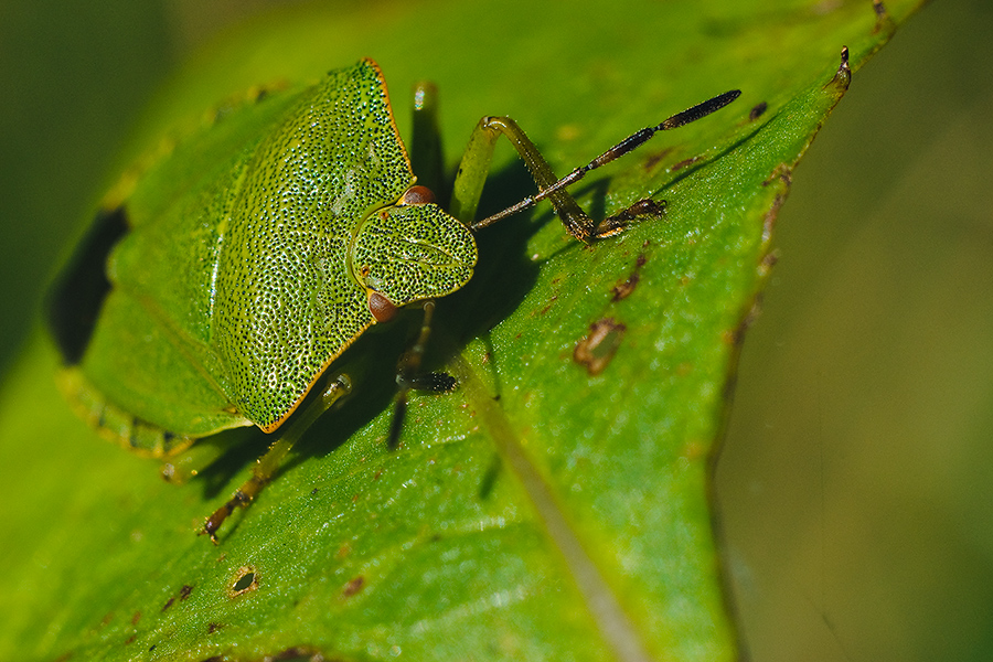
[[(220, 436), (231, 452), (166, 484), (72, 416), (54, 351), (32, 342), (0, 394), (0, 658), (734, 659), (708, 485), (736, 343), (790, 170), (846, 87), (842, 46), (857, 68), (914, 7), (320, 4), (215, 43), (121, 164), (249, 85), (364, 55), (404, 136), (407, 90), (438, 84), (450, 163), (487, 114), (514, 117), (564, 173), (743, 96), (575, 191), (595, 216), (648, 196), (664, 215), (591, 247), (542, 206), (480, 233), (478, 275), (439, 303), (434, 337), (459, 389), (415, 395), (388, 451), (416, 317), (366, 334), (340, 365), (350, 399), (217, 547), (195, 531), (267, 440)], [(532, 189), (504, 148), (483, 212)]]

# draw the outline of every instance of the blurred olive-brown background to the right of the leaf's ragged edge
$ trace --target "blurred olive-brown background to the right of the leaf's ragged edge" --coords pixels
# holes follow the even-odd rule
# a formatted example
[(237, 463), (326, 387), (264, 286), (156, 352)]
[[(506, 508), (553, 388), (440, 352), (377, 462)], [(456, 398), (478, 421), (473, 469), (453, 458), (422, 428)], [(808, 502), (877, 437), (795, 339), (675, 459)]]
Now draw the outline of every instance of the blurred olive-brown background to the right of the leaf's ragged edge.
[(993, 659), (991, 34), (925, 7), (794, 172), (717, 470), (757, 661)]

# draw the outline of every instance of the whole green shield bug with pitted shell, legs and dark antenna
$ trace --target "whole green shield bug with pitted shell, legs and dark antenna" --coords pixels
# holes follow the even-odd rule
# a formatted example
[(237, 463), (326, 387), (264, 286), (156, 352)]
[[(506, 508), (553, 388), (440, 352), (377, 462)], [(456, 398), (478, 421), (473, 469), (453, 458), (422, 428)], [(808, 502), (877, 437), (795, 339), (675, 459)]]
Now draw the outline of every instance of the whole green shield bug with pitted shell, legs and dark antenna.
[[(563, 179), (513, 120), (484, 117), (445, 211), (415, 183), (373, 61), (332, 71), (310, 87), (256, 90), (222, 106), (105, 197), (49, 298), (63, 389), (105, 436), (153, 457), (174, 456), (227, 428), (279, 429), (252, 478), (207, 517), (203, 533), (216, 542), (224, 520), (252, 501), (303, 431), (350, 391), (346, 375), (333, 375), (320, 397), (297, 410), (373, 324), (424, 302), (420, 337), (399, 362), (391, 444), (408, 391), (453, 386), (446, 375), (420, 374), (420, 355), (431, 300), (472, 277), (474, 231), (547, 199), (581, 242), (621, 232), (634, 216), (658, 211), (654, 203), (596, 223), (566, 188), (656, 131), (737, 96), (725, 93), (642, 129)], [(500, 136), (524, 159), (538, 192), (473, 223)]]

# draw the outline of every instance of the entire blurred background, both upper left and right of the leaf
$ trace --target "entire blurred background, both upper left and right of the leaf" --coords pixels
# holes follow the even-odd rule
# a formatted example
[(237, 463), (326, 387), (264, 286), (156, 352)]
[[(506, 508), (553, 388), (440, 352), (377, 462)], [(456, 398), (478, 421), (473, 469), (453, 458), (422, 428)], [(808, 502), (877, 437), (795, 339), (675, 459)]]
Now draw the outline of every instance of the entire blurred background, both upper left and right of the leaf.
[[(0, 6), (0, 369), (151, 93), (271, 4)], [(716, 477), (757, 662), (993, 656), (990, 34), (925, 8), (794, 172)]]

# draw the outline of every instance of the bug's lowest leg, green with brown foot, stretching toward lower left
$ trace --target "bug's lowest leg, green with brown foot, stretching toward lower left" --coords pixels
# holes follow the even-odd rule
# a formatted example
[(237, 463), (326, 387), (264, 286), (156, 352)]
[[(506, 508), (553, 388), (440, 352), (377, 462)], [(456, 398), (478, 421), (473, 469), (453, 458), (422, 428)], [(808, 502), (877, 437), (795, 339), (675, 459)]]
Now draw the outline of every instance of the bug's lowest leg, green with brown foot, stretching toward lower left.
[(320, 397), (311, 401), (302, 412), (296, 414), (290, 421), (287, 431), (269, 447), (266, 455), (256, 460), (255, 467), (252, 469), (252, 478), (246, 480), (241, 488), (235, 490), (231, 499), (227, 500), (227, 503), (215, 510), (213, 514), (206, 519), (200, 533), (207, 534), (211, 536), (214, 544), (217, 544), (217, 530), (221, 528), (224, 521), (235, 511), (235, 509), (244, 508), (255, 499), (263, 488), (265, 488), (273, 479), (273, 474), (276, 473), (276, 470), (279, 468), (286, 453), (288, 453), (300, 437), (303, 436), (303, 433), (306, 433), (324, 412), (331, 408), (334, 403), (348, 395), (351, 388), (352, 385), (348, 376), (339, 375), (324, 388)]

